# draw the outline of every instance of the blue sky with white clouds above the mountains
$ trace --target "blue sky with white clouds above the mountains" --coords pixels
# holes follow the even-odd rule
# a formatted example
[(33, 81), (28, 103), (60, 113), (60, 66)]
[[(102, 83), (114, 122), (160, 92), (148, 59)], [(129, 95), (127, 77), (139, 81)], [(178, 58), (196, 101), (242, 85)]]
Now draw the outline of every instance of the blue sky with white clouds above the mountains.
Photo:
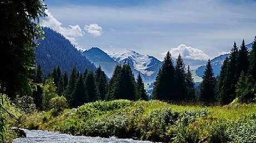
[(63, 34), (78, 49), (106, 53), (131, 49), (163, 60), (212, 59), (229, 53), (234, 41), (256, 35), (254, 0), (45, 0), (41, 25)]

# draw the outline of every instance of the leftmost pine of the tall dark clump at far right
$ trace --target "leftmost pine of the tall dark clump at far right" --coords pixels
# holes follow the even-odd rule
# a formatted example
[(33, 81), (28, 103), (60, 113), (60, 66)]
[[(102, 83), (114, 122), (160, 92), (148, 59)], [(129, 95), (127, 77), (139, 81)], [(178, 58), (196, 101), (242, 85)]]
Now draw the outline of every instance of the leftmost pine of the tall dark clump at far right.
[(231, 79), (229, 76), (228, 65), (229, 65), (229, 58), (227, 57), (225, 58), (221, 66), (219, 78), (216, 81), (216, 100), (220, 104), (229, 104), (234, 99), (229, 94)]

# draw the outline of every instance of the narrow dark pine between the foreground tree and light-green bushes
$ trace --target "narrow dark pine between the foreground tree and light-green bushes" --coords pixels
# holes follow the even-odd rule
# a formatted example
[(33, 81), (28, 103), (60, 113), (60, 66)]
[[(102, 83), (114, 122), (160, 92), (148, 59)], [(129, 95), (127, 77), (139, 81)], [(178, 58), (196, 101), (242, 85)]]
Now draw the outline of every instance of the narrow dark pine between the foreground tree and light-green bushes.
[(43, 71), (41, 65), (38, 65), (36, 69), (36, 75), (34, 79), (34, 83), (37, 83), (36, 85), (36, 91), (33, 91), (33, 99), (34, 103), (36, 105), (36, 108), (38, 110), (42, 110), (42, 83), (43, 83)]

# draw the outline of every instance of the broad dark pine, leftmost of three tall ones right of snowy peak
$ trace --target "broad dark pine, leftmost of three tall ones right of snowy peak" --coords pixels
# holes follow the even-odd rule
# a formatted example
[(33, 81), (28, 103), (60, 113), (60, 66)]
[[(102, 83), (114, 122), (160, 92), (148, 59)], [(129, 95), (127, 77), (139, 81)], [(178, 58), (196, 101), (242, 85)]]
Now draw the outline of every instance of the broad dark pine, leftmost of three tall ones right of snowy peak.
[(168, 51), (162, 67), (159, 69), (156, 81), (154, 83), (155, 87), (153, 90), (153, 98), (161, 100), (175, 100), (177, 96), (175, 95), (175, 77), (174, 77), (174, 67), (171, 54)]

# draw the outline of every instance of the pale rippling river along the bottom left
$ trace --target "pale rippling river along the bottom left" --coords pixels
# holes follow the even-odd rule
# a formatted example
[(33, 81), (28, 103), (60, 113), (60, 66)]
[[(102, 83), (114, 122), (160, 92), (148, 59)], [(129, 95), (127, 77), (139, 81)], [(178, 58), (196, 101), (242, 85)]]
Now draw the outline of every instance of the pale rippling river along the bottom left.
[(25, 138), (18, 138), (13, 143), (32, 143), (32, 142), (43, 142), (43, 143), (65, 143), (65, 142), (150, 142), (150, 141), (138, 141), (132, 139), (117, 139), (116, 137), (90, 137), (90, 136), (72, 136), (67, 134), (60, 134), (59, 132), (43, 131), (43, 130), (26, 130)]

